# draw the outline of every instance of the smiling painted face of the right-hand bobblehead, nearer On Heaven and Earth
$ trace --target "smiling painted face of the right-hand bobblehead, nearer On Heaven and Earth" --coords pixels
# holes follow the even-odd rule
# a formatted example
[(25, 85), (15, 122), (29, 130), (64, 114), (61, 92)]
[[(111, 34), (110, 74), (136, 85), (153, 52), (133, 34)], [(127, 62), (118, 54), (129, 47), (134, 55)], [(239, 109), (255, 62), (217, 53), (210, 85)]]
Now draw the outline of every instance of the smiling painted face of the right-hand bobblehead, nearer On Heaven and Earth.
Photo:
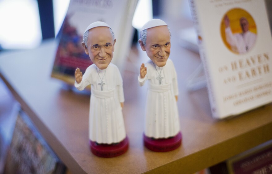
[(158, 67), (163, 67), (170, 55), (170, 33), (167, 26), (147, 29), (146, 46), (140, 43), (143, 51)]

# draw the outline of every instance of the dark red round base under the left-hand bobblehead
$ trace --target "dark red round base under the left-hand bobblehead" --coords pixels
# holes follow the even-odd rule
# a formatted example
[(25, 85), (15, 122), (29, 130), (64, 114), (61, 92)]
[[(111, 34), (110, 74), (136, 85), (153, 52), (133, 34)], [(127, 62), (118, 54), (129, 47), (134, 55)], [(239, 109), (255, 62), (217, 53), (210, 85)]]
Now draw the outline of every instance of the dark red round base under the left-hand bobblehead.
[(99, 157), (111, 158), (122, 155), (129, 148), (129, 140), (127, 137), (118, 144), (97, 144), (90, 140), (91, 152)]

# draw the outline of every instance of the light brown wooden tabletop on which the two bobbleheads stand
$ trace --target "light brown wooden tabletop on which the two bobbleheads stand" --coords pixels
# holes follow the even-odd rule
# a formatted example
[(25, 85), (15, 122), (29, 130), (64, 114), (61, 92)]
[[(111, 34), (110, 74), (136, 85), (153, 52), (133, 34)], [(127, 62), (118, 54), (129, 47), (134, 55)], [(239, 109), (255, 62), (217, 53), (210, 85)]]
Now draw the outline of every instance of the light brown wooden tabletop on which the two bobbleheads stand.
[[(88, 145), (89, 95), (65, 89), (50, 78), (57, 43), (34, 50), (0, 54), (0, 77), (53, 151), (73, 173), (193, 173), (272, 139), (272, 104), (242, 115), (211, 117), (206, 88), (187, 92), (185, 79), (198, 67), (199, 55), (172, 41), (170, 58), (179, 82), (182, 145), (171, 152), (151, 152), (143, 146), (146, 87), (137, 82), (138, 65), (146, 55), (137, 47), (122, 71), (123, 115), (129, 150), (118, 157), (94, 156)], [(173, 44), (175, 43), (175, 44)]]

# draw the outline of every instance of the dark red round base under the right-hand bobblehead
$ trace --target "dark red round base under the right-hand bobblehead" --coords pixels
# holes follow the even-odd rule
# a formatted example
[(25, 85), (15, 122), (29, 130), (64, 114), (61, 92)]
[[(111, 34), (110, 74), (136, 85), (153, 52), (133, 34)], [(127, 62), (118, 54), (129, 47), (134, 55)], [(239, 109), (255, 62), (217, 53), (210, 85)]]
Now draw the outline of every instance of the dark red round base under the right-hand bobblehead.
[(168, 152), (181, 145), (181, 132), (171, 138), (153, 139), (143, 134), (144, 145), (155, 152)]

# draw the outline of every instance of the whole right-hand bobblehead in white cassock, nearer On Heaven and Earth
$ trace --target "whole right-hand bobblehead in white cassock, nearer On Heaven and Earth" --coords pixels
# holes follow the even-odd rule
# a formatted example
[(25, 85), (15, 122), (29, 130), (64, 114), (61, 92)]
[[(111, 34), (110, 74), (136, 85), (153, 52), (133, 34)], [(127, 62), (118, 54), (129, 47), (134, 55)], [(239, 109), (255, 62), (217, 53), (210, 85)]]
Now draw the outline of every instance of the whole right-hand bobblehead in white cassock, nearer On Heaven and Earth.
[[(138, 82), (143, 86), (147, 81), (147, 102), (144, 141), (147, 148), (151, 141), (171, 139), (179, 136), (176, 147), (181, 144), (179, 115), (177, 109), (178, 87), (173, 62), (168, 59), (171, 47), (171, 33), (168, 25), (160, 19), (147, 22), (140, 31), (139, 44), (150, 60), (140, 67)], [(155, 148), (162, 148), (160, 146)], [(173, 148), (173, 149), (175, 149)], [(170, 150), (173, 150), (170, 148)], [(162, 151), (169, 151), (169, 148)]]

